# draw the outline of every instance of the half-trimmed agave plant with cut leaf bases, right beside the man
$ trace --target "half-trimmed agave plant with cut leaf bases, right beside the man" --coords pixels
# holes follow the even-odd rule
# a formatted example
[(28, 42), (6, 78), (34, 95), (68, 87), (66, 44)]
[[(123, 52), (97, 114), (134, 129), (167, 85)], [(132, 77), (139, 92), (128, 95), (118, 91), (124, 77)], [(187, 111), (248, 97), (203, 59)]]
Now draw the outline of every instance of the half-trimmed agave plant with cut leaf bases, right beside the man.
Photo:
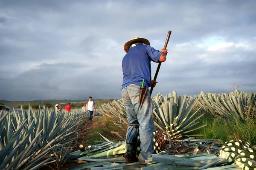
[[(196, 122), (204, 114), (200, 114), (201, 108), (199, 108), (195, 113), (192, 113), (193, 108), (196, 106), (199, 98), (191, 99), (187, 95), (176, 96), (176, 92), (168, 96), (163, 96), (158, 94), (153, 98), (155, 105), (154, 108), (154, 124), (161, 130), (167, 132), (170, 139), (177, 139), (184, 135), (187, 136), (197, 136), (188, 135), (187, 133), (197, 130), (206, 125), (202, 125), (197, 128), (192, 128), (199, 122)], [(195, 117), (196, 114), (200, 114)]]

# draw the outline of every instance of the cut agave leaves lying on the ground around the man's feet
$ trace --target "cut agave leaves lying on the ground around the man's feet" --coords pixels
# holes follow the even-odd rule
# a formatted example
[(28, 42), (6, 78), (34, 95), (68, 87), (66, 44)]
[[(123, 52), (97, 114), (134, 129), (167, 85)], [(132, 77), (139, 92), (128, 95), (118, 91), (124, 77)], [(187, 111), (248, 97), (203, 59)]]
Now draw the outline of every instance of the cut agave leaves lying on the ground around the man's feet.
[(241, 170), (238, 165), (225, 165), (227, 159), (218, 158), (223, 143), (217, 139), (172, 140), (165, 150), (153, 154), (144, 164), (125, 164), (126, 143), (102, 137), (106, 142), (81, 146), (80, 150), (70, 153), (69, 160), (81, 164), (68, 170)]

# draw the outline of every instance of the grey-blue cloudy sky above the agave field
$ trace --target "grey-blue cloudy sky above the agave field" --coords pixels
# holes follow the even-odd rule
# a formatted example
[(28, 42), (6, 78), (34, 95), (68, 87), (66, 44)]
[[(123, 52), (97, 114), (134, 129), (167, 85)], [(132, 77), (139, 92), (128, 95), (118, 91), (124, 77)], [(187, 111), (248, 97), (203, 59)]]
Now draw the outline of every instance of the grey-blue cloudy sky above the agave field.
[[(158, 92), (256, 91), (255, 0), (1, 0), (0, 99), (117, 99), (133, 36), (168, 55)], [(157, 63), (152, 63), (152, 78)], [(236, 85), (234, 85), (236, 87)]]

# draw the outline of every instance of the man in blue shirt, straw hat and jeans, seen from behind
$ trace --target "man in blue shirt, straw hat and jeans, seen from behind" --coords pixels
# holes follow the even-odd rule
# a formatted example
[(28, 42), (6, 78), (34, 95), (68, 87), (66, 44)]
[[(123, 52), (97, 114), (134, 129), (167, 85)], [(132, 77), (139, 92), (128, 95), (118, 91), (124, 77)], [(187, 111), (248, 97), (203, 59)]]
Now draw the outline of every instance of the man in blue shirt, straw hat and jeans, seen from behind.
[[(140, 86), (155, 87), (156, 81), (151, 80), (151, 61), (164, 62), (167, 50), (155, 50), (145, 38), (132, 37), (124, 45), (127, 52), (122, 60), (123, 82), (122, 100), (125, 104), (127, 119), (130, 123), (126, 133), (127, 152), (124, 154), (125, 163), (145, 161), (154, 153), (153, 132), (153, 102), (149, 91), (143, 105), (139, 109)], [(140, 155), (136, 157), (137, 135), (140, 129)]]

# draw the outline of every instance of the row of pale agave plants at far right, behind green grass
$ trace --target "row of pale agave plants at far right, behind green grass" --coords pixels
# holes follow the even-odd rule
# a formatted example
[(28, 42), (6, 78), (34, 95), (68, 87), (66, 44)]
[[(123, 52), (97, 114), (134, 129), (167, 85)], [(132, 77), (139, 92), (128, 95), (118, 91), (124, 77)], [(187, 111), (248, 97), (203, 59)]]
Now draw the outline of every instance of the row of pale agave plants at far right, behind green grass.
[(230, 92), (228, 94), (212, 94), (201, 92), (199, 105), (212, 115), (216, 113), (227, 119), (245, 121), (247, 117), (256, 118), (256, 93)]

